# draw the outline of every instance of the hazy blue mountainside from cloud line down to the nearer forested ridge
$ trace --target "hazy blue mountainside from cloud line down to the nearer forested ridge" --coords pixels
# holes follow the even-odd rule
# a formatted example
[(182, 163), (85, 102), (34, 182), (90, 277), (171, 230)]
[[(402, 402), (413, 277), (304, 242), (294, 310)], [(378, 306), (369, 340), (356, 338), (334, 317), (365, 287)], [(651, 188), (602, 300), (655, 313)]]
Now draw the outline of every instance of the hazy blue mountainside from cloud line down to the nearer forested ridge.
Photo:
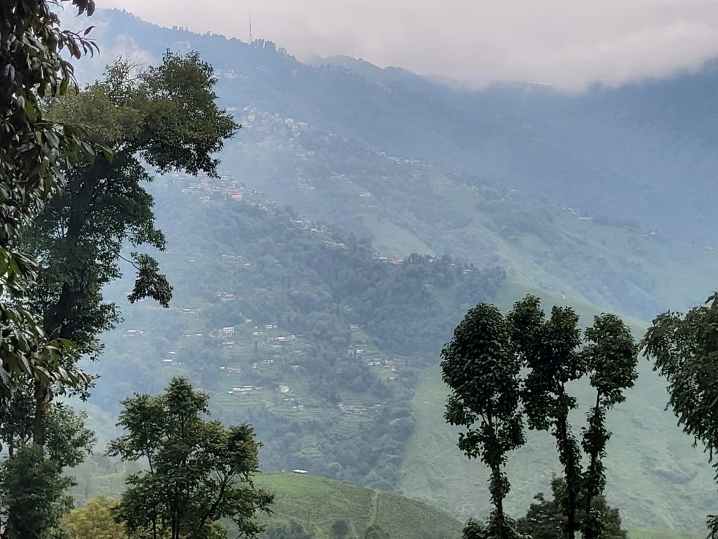
[(710, 67), (582, 96), (470, 92), (347, 57), (302, 64), (269, 42), (161, 29), (120, 11), (100, 22), (110, 54), (199, 50), (245, 126), (222, 156), (231, 172), (388, 253), (498, 264), (510, 280), (647, 319), (714, 285), (714, 160), (699, 142), (708, 124), (686, 131), (695, 114), (677, 111), (641, 124), (679, 88), (705, 95)]

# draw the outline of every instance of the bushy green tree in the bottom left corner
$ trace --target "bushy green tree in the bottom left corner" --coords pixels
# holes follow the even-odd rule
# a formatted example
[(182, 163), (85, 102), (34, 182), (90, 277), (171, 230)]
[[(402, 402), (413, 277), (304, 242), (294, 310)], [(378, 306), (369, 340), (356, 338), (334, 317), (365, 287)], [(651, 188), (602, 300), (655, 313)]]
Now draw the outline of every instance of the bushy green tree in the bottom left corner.
[(85, 459), (94, 435), (85, 428), (84, 415), (55, 404), (47, 415), (45, 448), (32, 443), (32, 431), (23, 431), (22, 426), (11, 440), (13, 456), (0, 468), (0, 507), (6, 525), (2, 537), (49, 538), (62, 515), (73, 507), (66, 492), (75, 482), (63, 469)]

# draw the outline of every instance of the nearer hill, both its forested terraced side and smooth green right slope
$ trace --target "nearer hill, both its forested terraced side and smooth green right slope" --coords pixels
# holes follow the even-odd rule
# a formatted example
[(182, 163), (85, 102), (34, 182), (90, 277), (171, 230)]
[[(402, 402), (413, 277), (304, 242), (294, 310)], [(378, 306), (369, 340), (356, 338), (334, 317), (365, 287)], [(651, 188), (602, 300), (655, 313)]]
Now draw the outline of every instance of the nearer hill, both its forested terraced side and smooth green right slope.
[[(213, 415), (252, 423), (265, 470), (308, 469), (456, 517), (485, 516), (485, 469), (460, 455), (456, 430), (442, 417), (439, 349), (470, 306), (491, 300), (509, 308), (536, 290), (505, 282), (494, 267), (417, 255), (400, 263), (227, 176), (165, 177), (151, 187), (168, 240), (159, 259), (175, 298), (164, 310), (127, 305), (126, 284), (109, 291), (125, 321), (89, 367), (101, 373), (90, 399), (101, 441), (116, 436), (118, 400), (158, 392), (184, 374), (210, 392)], [(546, 308), (574, 305), (584, 323), (600, 312), (545, 297)], [(640, 335), (643, 323), (629, 321)], [(610, 500), (630, 527), (699, 527), (711, 505), (711, 472), (663, 412), (663, 382), (647, 362), (641, 370), (628, 402), (610, 416)], [(81, 499), (111, 489), (114, 466), (98, 456), (85, 464)], [(518, 515), (559, 471), (551, 440), (532, 435), (510, 466), (509, 504)]]

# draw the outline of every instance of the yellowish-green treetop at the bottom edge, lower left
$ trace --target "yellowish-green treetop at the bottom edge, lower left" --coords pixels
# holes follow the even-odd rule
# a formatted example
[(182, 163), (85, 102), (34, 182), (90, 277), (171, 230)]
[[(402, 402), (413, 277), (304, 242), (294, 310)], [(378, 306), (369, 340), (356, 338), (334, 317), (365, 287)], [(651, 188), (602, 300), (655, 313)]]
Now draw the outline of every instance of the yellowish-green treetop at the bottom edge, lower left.
[(70, 539), (122, 539), (126, 530), (113, 517), (116, 507), (115, 500), (100, 495), (65, 515), (61, 528)]

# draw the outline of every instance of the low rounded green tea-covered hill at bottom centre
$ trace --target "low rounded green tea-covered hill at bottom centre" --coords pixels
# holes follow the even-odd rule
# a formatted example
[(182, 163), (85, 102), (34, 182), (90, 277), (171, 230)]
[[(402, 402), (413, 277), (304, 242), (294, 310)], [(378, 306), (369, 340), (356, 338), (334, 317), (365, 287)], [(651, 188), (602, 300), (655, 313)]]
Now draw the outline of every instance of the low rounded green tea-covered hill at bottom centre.
[(392, 539), (458, 538), (461, 524), (446, 513), (396, 494), (324, 477), (264, 474), (256, 483), (275, 494), (269, 526), (296, 520), (317, 539), (330, 539), (332, 524), (347, 520), (353, 536), (379, 525)]

